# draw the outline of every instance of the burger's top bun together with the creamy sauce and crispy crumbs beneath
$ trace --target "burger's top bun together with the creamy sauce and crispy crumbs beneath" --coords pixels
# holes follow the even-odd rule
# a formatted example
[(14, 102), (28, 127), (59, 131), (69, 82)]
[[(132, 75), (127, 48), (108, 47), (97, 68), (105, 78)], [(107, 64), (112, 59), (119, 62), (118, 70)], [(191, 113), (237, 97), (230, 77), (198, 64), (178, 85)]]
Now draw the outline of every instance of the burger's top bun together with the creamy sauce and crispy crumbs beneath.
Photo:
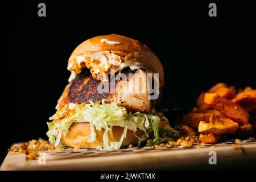
[[(108, 62), (110, 59), (112, 61)], [(129, 66), (131, 69), (145, 68), (150, 73), (159, 73), (159, 88), (162, 90), (164, 71), (155, 53), (138, 40), (116, 34), (96, 36), (77, 46), (68, 61), (68, 70), (72, 72), (69, 81), (82, 68), (90, 69), (96, 78), (102, 72), (109, 75), (111, 68), (119, 71)]]

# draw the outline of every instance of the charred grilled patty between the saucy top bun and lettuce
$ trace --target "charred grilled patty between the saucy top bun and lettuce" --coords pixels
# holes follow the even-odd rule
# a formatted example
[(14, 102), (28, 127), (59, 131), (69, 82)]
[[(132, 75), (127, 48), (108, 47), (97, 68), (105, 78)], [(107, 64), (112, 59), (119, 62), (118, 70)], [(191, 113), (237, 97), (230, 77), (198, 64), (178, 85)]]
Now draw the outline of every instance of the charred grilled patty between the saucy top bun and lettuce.
[[(82, 104), (89, 103), (90, 100), (97, 102), (105, 99), (109, 100), (109, 102), (116, 101), (118, 102), (118, 105), (126, 107), (131, 111), (150, 113), (151, 102), (148, 100), (149, 94), (147, 92), (142, 92), (142, 88), (146, 86), (146, 72), (143, 69), (131, 71), (131, 69), (125, 68), (122, 73), (125, 73), (127, 77), (126, 80), (107, 82), (105, 89), (109, 92), (99, 93), (97, 90), (98, 85), (102, 84), (102, 82), (93, 78), (88, 69), (84, 69), (75, 80), (66, 86), (57, 106), (63, 106), (69, 102)], [(129, 76), (129, 73), (133, 73), (133, 76)], [(129, 82), (133, 81), (134, 78), (144, 78), (146, 80), (144, 82), (135, 82), (136, 84), (129, 85)], [(130, 93), (128, 92), (128, 86), (130, 86), (129, 90), (140, 88), (140, 92)]]

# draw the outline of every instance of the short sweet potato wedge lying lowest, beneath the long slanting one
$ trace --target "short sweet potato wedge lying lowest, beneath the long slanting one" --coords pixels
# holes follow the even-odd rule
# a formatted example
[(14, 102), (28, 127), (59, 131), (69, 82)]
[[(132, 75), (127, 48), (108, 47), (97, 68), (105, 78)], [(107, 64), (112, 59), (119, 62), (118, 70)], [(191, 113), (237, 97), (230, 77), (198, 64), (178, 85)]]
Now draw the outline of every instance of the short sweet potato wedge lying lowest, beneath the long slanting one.
[(205, 118), (205, 121), (200, 121), (198, 131), (200, 133), (212, 133), (214, 135), (234, 134), (238, 129), (238, 123), (232, 119), (212, 115), (210, 118)]

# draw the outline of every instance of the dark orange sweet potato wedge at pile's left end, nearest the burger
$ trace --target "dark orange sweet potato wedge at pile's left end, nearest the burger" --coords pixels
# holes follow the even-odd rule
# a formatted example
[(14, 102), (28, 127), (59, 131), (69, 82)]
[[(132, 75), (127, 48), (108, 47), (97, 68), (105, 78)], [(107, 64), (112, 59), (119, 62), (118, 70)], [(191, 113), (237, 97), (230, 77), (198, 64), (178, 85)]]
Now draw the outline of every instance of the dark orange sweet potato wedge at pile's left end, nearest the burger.
[(188, 113), (183, 115), (182, 121), (185, 125), (188, 125), (192, 129), (198, 129), (199, 122), (202, 121), (201, 118), (210, 117), (210, 113)]

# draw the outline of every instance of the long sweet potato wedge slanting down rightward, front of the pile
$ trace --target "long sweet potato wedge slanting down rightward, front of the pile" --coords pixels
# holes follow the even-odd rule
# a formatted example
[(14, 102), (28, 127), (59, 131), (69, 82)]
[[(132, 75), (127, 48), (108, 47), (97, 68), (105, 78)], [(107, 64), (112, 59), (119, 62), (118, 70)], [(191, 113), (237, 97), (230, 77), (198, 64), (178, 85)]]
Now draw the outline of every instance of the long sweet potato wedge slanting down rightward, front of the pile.
[(222, 98), (216, 93), (205, 93), (204, 102), (235, 122), (242, 125), (249, 122), (249, 114), (240, 105)]

